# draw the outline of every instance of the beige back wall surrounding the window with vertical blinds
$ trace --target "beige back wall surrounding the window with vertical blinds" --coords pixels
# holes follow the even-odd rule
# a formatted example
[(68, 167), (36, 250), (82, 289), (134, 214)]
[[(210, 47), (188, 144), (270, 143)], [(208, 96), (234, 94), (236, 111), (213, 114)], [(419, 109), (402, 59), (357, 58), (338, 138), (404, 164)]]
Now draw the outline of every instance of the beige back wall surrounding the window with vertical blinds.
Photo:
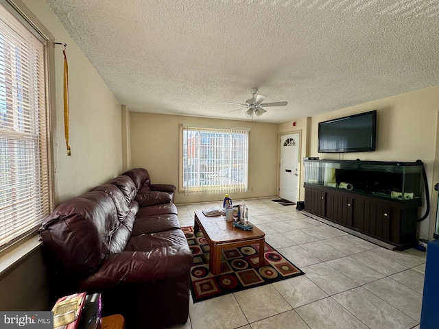
[[(248, 192), (230, 194), (232, 199), (276, 195), (278, 125), (175, 115), (131, 113), (132, 167), (147, 169), (153, 184), (178, 186), (179, 125), (191, 123), (213, 127), (249, 127)], [(207, 202), (224, 195), (177, 191), (176, 204)]]

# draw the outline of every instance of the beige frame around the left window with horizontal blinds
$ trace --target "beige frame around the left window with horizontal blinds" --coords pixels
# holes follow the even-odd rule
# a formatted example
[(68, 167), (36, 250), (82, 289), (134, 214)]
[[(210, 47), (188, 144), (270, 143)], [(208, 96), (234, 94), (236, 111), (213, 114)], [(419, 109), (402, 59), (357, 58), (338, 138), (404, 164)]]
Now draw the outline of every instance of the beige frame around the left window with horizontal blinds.
[[(1, 5), (5, 7), (16, 19), (18, 19), (29, 32), (34, 34), (36, 38), (40, 39), (43, 43), (44, 53), (43, 53), (43, 61), (44, 61), (44, 83), (45, 83), (45, 116), (46, 116), (46, 136), (45, 143), (47, 146), (45, 150), (47, 150), (47, 160), (45, 160), (45, 164), (47, 165), (47, 181), (48, 181), (48, 202), (49, 207), (47, 210), (47, 215), (54, 210), (54, 204), (58, 200), (58, 191), (57, 188), (57, 180), (54, 168), (56, 168), (56, 148), (54, 147), (56, 141), (56, 111), (55, 111), (55, 103), (56, 103), (56, 95), (55, 95), (55, 44), (54, 44), (54, 36), (47, 30), (47, 28), (41, 23), (36, 16), (27, 8), (27, 6), (21, 0), (0, 0)], [(38, 159), (40, 160), (40, 159)], [(45, 212), (46, 213), (46, 212)], [(44, 218), (39, 219), (39, 223), (32, 226), (26, 232), (23, 232), (20, 236), (14, 237), (10, 241), (7, 241), (5, 244), (0, 245), (0, 256), (7, 252), (8, 249), (12, 247), (16, 247), (16, 245), (21, 245), (29, 239), (34, 239), (37, 234), (38, 227), (40, 223), (43, 222)]]

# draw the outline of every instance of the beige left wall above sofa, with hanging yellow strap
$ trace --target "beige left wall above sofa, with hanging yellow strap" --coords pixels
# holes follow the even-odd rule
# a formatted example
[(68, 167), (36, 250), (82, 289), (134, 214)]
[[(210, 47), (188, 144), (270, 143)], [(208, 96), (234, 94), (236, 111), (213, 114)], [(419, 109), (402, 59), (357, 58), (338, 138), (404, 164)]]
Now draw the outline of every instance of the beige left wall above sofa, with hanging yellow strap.
[(122, 171), (121, 104), (44, 0), (25, 5), (51, 32), (67, 43), (71, 156), (64, 141), (62, 46), (55, 47), (57, 203), (119, 175)]

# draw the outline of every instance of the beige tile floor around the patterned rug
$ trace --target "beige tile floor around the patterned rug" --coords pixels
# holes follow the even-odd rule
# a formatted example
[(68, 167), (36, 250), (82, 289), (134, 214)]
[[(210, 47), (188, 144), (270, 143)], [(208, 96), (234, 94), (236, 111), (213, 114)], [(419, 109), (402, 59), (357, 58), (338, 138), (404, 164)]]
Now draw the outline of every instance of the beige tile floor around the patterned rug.
[[(191, 329), (419, 328), (424, 252), (390, 251), (270, 198), (246, 200), (249, 220), (298, 276), (193, 304)], [(222, 202), (177, 205), (182, 226)]]

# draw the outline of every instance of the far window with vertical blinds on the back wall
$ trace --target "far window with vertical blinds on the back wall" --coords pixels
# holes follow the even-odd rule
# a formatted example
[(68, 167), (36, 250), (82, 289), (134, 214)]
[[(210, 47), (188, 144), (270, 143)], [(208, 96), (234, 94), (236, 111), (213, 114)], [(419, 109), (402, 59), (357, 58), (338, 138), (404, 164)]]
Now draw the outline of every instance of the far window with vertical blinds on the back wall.
[(182, 125), (180, 189), (187, 192), (247, 191), (248, 130)]

